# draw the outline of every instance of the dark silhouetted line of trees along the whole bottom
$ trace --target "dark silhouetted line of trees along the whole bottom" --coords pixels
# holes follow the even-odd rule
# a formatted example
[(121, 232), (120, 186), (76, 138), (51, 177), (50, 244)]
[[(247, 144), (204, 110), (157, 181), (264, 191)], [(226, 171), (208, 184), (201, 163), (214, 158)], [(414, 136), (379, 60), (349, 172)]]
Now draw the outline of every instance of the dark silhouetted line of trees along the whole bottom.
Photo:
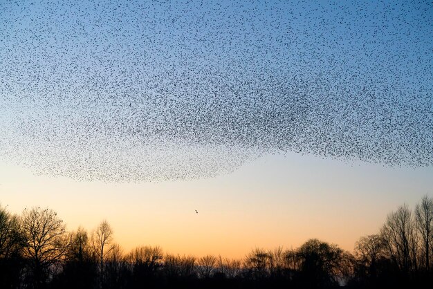
[[(0, 288), (428, 288), (433, 283), (433, 198), (388, 214), (353, 253), (310, 239), (299, 248), (256, 248), (243, 259), (123, 252), (113, 229), (73, 232), (52, 209), (20, 215), (0, 206)], [(424, 285), (427, 284), (427, 285)]]

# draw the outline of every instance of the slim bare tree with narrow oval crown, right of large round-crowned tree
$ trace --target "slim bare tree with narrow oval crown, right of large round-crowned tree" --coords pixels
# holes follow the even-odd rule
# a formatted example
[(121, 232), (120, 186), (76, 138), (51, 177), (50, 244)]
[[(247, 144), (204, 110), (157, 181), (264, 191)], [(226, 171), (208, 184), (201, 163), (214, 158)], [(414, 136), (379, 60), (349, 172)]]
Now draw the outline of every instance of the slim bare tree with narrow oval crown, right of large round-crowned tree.
[(92, 233), (92, 248), (95, 256), (100, 263), (100, 287), (102, 288), (104, 279), (104, 258), (109, 253), (108, 245), (113, 241), (113, 229), (107, 221), (102, 221)]

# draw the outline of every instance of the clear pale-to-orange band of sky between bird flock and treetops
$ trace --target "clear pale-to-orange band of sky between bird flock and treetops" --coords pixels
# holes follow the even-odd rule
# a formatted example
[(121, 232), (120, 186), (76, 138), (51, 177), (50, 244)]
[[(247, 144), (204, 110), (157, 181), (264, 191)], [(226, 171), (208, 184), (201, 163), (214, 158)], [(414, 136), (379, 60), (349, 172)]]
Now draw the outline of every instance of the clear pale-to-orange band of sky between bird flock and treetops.
[[(33, 176), (0, 165), (0, 196), (10, 212), (50, 207), (75, 230), (102, 219), (127, 252), (243, 257), (254, 248), (296, 248), (309, 238), (353, 250), (378, 232), (389, 212), (432, 196), (433, 168), (391, 168), (288, 153), (266, 156), (232, 174), (192, 181), (112, 184)], [(197, 209), (199, 214), (194, 210)]]

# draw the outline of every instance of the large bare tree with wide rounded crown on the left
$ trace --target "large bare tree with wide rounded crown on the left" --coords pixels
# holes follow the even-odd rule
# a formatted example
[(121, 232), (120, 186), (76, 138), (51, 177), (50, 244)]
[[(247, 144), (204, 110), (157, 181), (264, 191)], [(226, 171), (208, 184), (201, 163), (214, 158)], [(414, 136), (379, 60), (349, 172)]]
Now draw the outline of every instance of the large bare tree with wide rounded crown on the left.
[(24, 209), (21, 232), (26, 242), (25, 257), (30, 261), (30, 272), (35, 288), (44, 285), (68, 250), (69, 239), (63, 221), (51, 209)]

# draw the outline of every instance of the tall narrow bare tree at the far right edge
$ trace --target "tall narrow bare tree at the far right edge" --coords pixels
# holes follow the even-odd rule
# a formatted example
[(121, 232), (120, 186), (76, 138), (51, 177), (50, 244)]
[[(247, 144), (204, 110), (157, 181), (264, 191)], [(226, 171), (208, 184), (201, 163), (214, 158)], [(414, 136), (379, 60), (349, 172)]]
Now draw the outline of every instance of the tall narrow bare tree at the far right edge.
[(425, 270), (430, 270), (430, 259), (432, 258), (432, 238), (433, 238), (433, 198), (423, 196), (421, 202), (415, 207), (416, 228), (421, 239), (423, 247), (421, 248), (424, 255)]

